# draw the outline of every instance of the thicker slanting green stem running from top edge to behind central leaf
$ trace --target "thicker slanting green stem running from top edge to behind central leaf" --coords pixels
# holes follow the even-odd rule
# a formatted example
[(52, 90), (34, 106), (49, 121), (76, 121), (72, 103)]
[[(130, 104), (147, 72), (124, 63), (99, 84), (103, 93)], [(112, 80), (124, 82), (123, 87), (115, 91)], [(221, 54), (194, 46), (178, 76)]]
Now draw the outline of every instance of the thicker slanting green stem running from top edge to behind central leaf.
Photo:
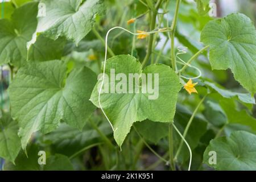
[[(156, 6), (155, 6), (155, 10), (152, 10), (152, 15), (150, 14), (150, 19), (151, 19), (150, 31), (155, 30), (156, 15), (158, 14), (158, 9), (159, 9), (162, 1), (163, 0), (158, 0), (158, 2), (156, 3)], [(150, 58), (150, 55), (152, 53), (153, 40), (154, 40), (154, 34), (150, 34), (149, 39), (148, 39), (147, 54), (146, 54), (144, 60), (142, 61), (142, 67), (144, 67), (144, 65), (146, 65), (148, 59)]]

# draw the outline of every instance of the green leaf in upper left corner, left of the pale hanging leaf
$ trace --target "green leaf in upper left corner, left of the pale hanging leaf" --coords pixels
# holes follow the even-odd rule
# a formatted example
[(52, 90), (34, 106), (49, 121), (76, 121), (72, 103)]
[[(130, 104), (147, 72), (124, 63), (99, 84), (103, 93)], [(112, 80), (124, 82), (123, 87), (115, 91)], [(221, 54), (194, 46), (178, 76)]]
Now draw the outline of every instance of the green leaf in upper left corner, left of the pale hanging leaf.
[[(15, 9), (11, 20), (0, 19), (0, 64), (20, 67), (27, 59), (26, 44), (36, 30), (38, 3), (26, 3)], [(26, 13), (24, 13), (26, 12)]]

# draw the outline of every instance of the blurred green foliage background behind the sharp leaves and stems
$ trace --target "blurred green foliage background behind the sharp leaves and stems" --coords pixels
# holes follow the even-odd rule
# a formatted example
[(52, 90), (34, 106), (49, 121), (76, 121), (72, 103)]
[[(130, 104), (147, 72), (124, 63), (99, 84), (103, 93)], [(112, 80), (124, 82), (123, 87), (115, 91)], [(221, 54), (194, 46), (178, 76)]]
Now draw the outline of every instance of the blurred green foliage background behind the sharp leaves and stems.
[[(3, 9), (1, 9), (2, 16), (10, 18), (15, 6), (22, 6), (26, 2), (28, 0), (5, 2), (5, 11), (3, 12)], [(255, 24), (256, 1), (220, 0), (214, 2), (217, 4), (218, 17), (222, 18), (230, 13), (239, 12), (249, 16)], [(97, 32), (100, 36), (105, 37), (109, 28), (114, 26), (126, 27), (131, 31), (137, 29), (149, 31), (147, 15), (143, 16), (134, 24), (127, 25), (126, 23), (128, 19), (139, 16), (147, 11), (141, 2), (137, 0), (109, 0), (105, 1), (105, 3), (106, 12), (102, 16), (97, 16), (93, 30), (81, 40), (77, 47), (75, 43), (64, 39), (56, 43), (58, 46), (55, 49), (56, 54), (60, 53), (61, 59), (71, 69), (86, 66), (92, 69), (97, 75), (100, 73), (100, 64), (104, 60), (104, 45), (101, 43)], [(168, 10), (168, 16), (165, 14), (163, 17), (164, 19), (168, 18), (169, 24), (171, 24), (175, 10), (175, 1), (170, 2)], [(161, 9), (161, 11), (164, 10)], [(197, 13), (195, 3), (192, 1), (182, 1), (179, 11), (179, 22), (177, 23), (175, 46), (186, 46), (188, 47), (188, 52), (181, 55), (181, 59), (188, 60), (203, 47), (200, 43), (200, 33), (205, 24), (212, 19), (209, 16), (200, 16)], [(167, 38), (166, 34), (156, 36), (156, 48), (152, 56), (154, 56), (155, 60), (159, 60), (159, 63), (170, 65), (170, 60), (168, 59), (168, 56), (170, 56), (170, 44), (165, 44)], [(143, 57), (146, 56), (146, 40), (137, 40), (136, 48), (133, 51), (131, 49), (134, 38), (131, 35), (118, 30), (110, 35), (109, 40), (109, 46), (115, 55), (130, 53), (139, 60), (143, 60)], [(59, 52), (58, 49), (60, 49)], [(232, 92), (247, 93), (234, 80), (233, 74), (229, 70), (212, 71), (207, 52), (199, 56), (193, 62), (193, 65), (200, 68), (205, 80), (215, 81)], [(8, 111), (10, 108), (7, 88), (12, 77), (15, 76), (15, 69), (15, 67), (8, 67), (8, 65), (2, 65), (1, 67), (1, 108), (5, 111)], [(10, 70), (12, 70), (12, 73)], [(187, 69), (186, 73), (188, 76), (196, 76), (195, 71), (190, 68)], [(192, 112), (207, 92), (202, 82), (199, 80), (199, 86), (197, 88), (199, 94), (189, 96), (184, 89), (181, 89), (175, 115), (175, 122), (181, 132), (184, 131)], [(223, 98), (218, 93), (211, 94), (204, 100), (203, 105), (199, 107), (187, 134), (188, 143), (193, 150), (192, 169), (212, 170), (212, 168), (203, 163), (203, 154), (209, 141), (216, 138), (216, 135), (218, 137), (222, 135), (230, 136), (233, 131), (237, 130), (255, 134), (256, 123), (253, 123), (256, 122), (255, 117), (255, 105), (244, 104), (234, 98)], [(249, 125), (246, 125), (246, 123), (249, 123)], [(135, 126), (139, 134), (135, 130), (131, 130), (125, 143), (123, 143), (122, 151), (120, 151), (119, 147), (115, 144), (108, 122), (102, 116), (101, 111), (97, 109), (82, 131), (63, 123), (57, 130), (46, 135), (38, 132), (33, 135), (30, 144), (27, 146), (27, 155), (29, 158), (26, 158), (24, 152), (20, 150), (18, 157), (15, 159), (16, 165), (9, 160), (0, 159), (0, 167), (1, 169), (10, 170), (169, 169), (163, 160), (159, 159), (151, 151), (156, 151), (158, 155), (168, 160), (168, 125), (143, 121), (136, 123)], [(155, 131), (154, 129), (156, 128), (158, 130)], [(153, 137), (151, 133), (154, 133)], [(173, 137), (174, 151), (177, 151), (180, 137), (177, 133), (174, 133)], [(150, 145), (149, 148), (147, 144)], [(39, 150), (47, 152), (47, 156), (49, 156), (47, 163), (52, 163), (52, 166), (42, 167), (38, 165)], [(256, 157), (256, 155), (252, 155), (251, 157), (254, 156)], [(185, 144), (183, 144), (175, 168), (186, 170), (188, 159), (188, 150)]]

